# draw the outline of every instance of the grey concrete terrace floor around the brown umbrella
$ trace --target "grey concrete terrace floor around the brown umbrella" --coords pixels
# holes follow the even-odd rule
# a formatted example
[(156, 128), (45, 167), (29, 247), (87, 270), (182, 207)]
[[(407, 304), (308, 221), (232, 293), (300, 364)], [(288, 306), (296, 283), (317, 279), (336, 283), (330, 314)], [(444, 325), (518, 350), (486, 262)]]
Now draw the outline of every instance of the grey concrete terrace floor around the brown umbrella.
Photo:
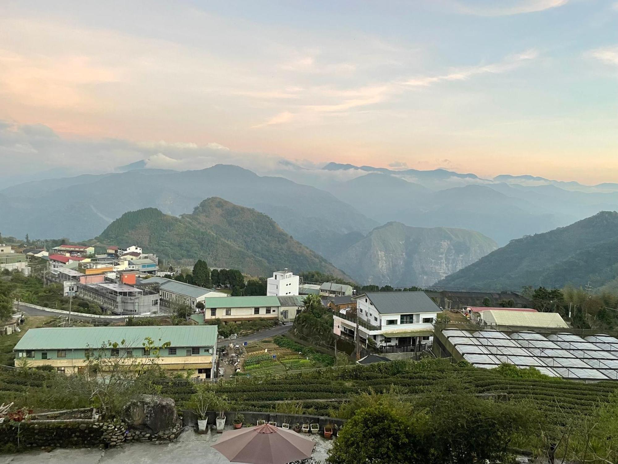
[[(313, 457), (316, 462), (326, 460), (331, 440), (324, 440), (316, 435), (303, 435), (316, 442)], [(229, 461), (218, 451), (211, 448), (220, 435), (208, 432), (197, 434), (193, 427), (185, 427), (180, 437), (173, 443), (131, 443), (121, 447), (101, 450), (56, 449), (52, 452), (35, 450), (18, 454), (0, 455), (0, 464), (219, 464)]]

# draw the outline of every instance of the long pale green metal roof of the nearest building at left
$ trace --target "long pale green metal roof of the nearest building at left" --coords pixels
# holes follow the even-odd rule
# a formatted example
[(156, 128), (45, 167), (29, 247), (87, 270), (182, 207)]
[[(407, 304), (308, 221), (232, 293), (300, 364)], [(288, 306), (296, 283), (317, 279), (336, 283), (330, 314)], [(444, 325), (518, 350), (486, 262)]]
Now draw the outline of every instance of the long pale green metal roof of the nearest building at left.
[(215, 346), (216, 325), (160, 325), (142, 327), (49, 327), (30, 329), (13, 350), (83, 350), (125, 340), (127, 348), (142, 348), (146, 337), (155, 345)]

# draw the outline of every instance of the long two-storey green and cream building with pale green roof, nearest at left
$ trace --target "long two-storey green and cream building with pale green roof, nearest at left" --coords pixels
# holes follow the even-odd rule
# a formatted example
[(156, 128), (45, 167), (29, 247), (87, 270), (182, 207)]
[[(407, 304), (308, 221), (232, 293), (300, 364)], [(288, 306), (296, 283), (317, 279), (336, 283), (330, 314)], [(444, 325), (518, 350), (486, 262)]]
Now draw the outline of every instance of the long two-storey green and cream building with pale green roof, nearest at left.
[[(168, 342), (170, 345), (151, 353), (143, 346), (146, 338), (158, 346)], [(121, 344), (122, 340), (125, 343), (118, 348), (101, 348), (108, 342)], [(216, 346), (216, 325), (53, 327), (28, 330), (13, 351), (18, 360), (26, 359), (30, 366), (49, 364), (62, 374), (83, 372), (88, 365), (86, 354), (90, 352), (95, 356), (100, 354), (103, 359), (118, 358), (127, 364), (157, 363), (170, 374), (185, 375), (193, 371), (194, 377), (211, 379)]]

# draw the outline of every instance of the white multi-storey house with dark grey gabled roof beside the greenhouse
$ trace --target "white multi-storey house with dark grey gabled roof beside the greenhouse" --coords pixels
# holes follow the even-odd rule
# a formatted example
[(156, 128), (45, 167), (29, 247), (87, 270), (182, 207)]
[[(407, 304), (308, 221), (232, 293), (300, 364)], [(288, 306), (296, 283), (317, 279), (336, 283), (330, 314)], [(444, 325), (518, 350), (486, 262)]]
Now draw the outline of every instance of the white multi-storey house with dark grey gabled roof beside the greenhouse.
[[(424, 291), (363, 293), (357, 301), (357, 316), (335, 313), (333, 333), (365, 343), (370, 337), (378, 348), (414, 351), (433, 341), (433, 322), (441, 309)], [(356, 333), (358, 318), (358, 334)]]

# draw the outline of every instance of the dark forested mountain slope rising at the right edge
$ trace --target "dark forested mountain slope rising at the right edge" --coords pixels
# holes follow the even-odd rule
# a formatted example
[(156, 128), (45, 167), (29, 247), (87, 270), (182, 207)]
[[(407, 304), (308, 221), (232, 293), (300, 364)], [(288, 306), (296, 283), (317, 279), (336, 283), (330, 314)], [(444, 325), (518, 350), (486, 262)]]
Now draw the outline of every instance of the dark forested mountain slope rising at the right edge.
[(618, 284), (618, 213), (525, 236), (438, 282), (441, 286), (519, 290), (524, 285)]

